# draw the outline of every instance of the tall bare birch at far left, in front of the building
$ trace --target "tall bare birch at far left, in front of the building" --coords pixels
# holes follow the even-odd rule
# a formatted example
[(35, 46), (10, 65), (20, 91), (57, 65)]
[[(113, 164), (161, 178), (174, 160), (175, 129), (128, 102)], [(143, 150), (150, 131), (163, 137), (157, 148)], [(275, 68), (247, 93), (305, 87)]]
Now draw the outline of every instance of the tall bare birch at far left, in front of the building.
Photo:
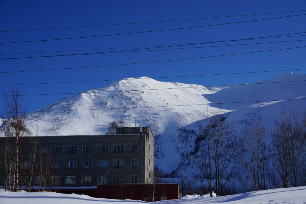
[(20, 180), (20, 165), (23, 158), (21, 137), (28, 136), (31, 132), (26, 128), (26, 109), (22, 106), (22, 99), (18, 89), (12, 89), (11, 94), (4, 93), (6, 120), (2, 124), (2, 134), (5, 136), (6, 165), (5, 183), (11, 191), (17, 191)]

